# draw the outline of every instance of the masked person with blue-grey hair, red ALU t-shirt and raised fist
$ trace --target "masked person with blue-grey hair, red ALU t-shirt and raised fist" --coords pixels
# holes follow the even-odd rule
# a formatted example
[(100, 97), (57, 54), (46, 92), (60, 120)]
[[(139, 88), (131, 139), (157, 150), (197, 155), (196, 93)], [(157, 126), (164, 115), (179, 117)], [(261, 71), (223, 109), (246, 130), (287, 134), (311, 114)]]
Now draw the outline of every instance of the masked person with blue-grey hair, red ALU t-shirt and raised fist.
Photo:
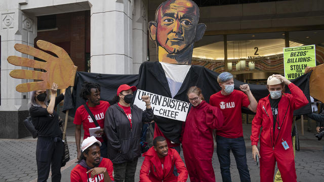
[(232, 151), (241, 181), (251, 181), (247, 165), (247, 152), (243, 138), (241, 107), (256, 112), (257, 101), (248, 84), (240, 85), (242, 90), (234, 89), (233, 75), (229, 72), (219, 74), (217, 82), (222, 88), (210, 97), (210, 104), (221, 109), (224, 116), (223, 127), (216, 131), (217, 157), (221, 166), (223, 181), (231, 181), (230, 150)]

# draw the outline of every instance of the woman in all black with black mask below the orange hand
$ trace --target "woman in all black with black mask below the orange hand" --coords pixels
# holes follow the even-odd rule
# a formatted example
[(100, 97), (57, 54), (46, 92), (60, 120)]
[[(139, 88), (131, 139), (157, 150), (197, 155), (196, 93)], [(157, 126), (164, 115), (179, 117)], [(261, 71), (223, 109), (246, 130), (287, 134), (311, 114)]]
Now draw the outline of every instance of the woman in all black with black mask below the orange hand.
[(31, 92), (29, 113), (35, 129), (38, 131), (36, 145), (37, 181), (47, 181), (50, 167), (52, 169), (52, 181), (61, 181), (61, 161), (64, 152), (62, 132), (59, 126), (59, 115), (54, 110), (63, 99), (64, 94), (57, 97), (58, 85), (53, 83), (51, 87), (51, 100), (47, 103), (46, 90)]

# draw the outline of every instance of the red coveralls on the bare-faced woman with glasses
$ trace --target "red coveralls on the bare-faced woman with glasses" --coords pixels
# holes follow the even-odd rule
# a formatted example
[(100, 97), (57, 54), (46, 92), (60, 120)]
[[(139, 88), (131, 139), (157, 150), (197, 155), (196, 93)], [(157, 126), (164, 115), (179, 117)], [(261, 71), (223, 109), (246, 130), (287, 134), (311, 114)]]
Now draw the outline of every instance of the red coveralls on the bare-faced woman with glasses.
[(186, 119), (182, 147), (190, 181), (215, 181), (212, 165), (213, 129), (223, 125), (223, 114), (217, 107), (202, 101), (191, 107)]

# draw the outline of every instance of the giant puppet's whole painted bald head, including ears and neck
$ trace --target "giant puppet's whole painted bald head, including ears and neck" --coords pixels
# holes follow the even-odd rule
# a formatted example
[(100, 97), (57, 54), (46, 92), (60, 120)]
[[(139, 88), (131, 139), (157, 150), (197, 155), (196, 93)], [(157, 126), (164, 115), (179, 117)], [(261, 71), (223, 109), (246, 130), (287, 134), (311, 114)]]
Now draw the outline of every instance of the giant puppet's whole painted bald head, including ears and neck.
[(193, 43), (200, 40), (206, 30), (206, 25), (198, 21), (199, 8), (191, 0), (169, 0), (158, 7), (155, 21), (149, 22), (149, 32), (157, 43), (159, 61), (190, 64)]

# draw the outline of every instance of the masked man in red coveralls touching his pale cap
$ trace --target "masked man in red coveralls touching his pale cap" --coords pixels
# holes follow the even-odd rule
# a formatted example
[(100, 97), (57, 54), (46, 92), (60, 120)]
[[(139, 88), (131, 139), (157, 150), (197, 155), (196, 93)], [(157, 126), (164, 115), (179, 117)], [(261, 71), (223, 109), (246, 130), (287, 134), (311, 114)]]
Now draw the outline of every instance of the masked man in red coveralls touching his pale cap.
[[(284, 93), (285, 84), (292, 94)], [(294, 110), (308, 104), (302, 90), (282, 75), (268, 77), (269, 95), (260, 99), (252, 121), (252, 155), (260, 158), (261, 182), (273, 181), (275, 163), (282, 181), (297, 181), (291, 129)], [(260, 153), (257, 148), (260, 129)]]

